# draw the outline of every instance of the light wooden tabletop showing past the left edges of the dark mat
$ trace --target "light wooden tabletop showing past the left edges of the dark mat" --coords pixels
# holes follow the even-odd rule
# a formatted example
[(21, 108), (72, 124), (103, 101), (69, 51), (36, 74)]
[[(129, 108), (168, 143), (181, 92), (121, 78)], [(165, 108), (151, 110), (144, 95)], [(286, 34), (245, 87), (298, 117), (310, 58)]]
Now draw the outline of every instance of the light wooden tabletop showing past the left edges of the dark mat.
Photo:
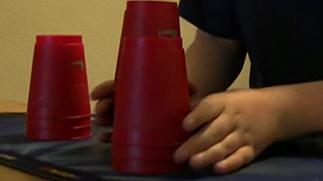
[[(0, 112), (26, 112), (26, 104), (0, 99)], [(45, 181), (45, 179), (11, 169), (1, 164), (0, 180)]]

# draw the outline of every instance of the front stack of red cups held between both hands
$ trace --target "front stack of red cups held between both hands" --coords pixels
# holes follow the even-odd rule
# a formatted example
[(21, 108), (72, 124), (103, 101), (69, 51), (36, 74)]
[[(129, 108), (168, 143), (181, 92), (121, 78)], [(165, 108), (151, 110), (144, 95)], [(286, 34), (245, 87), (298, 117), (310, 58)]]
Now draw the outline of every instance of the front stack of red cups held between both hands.
[(125, 38), (116, 84), (112, 168), (139, 174), (182, 169), (172, 155), (189, 136), (181, 38)]

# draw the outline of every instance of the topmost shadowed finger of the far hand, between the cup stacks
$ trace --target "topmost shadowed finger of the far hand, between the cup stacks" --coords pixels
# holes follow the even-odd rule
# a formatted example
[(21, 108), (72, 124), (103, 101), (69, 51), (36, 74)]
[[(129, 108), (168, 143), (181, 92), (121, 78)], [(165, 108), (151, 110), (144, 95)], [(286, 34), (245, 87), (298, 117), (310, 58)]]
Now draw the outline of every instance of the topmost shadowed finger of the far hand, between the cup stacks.
[(112, 98), (114, 95), (114, 81), (106, 81), (96, 86), (91, 92), (91, 99), (98, 100)]

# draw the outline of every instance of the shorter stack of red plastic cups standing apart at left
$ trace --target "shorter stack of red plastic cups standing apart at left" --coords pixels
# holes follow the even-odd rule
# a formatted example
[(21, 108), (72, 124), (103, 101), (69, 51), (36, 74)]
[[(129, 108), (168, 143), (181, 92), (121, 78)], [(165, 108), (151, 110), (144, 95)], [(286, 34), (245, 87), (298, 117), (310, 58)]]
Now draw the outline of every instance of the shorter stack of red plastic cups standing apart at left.
[(90, 116), (82, 36), (37, 36), (27, 108), (27, 138), (88, 138), (92, 134)]

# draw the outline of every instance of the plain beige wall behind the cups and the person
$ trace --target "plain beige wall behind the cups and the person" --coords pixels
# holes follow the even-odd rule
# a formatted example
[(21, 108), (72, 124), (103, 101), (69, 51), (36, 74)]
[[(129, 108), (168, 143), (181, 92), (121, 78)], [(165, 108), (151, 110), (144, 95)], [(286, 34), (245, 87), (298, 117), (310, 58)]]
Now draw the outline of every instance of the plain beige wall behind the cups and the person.
[[(89, 86), (113, 78), (125, 0), (0, 0), (0, 98), (26, 102), (37, 34), (81, 34)], [(185, 48), (194, 27), (181, 20)], [(234, 87), (246, 87), (248, 66)]]

